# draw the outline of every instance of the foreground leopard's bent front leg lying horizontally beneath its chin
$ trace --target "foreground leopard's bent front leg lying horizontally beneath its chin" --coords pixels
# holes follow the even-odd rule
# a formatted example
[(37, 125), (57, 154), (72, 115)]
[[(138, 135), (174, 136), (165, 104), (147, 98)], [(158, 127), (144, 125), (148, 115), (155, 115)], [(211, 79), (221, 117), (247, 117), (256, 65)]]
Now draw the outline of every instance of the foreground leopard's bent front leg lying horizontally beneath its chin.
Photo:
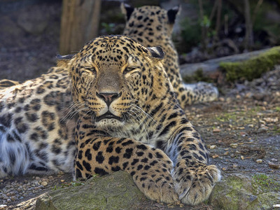
[(172, 161), (163, 151), (133, 139), (106, 137), (98, 132), (92, 130), (91, 135), (78, 137), (77, 179), (123, 170), (132, 175), (134, 183), (149, 199), (166, 203), (178, 201), (171, 174)]

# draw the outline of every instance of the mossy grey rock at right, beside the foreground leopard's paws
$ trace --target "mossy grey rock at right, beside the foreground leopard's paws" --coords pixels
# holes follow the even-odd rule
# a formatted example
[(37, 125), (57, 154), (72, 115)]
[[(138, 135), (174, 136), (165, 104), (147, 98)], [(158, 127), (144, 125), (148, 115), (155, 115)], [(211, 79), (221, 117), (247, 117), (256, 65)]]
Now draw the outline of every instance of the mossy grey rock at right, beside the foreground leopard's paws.
[[(273, 190), (273, 189), (272, 189)], [(231, 174), (217, 183), (209, 197), (214, 209), (272, 209), (280, 193), (264, 193), (253, 184), (250, 176)]]

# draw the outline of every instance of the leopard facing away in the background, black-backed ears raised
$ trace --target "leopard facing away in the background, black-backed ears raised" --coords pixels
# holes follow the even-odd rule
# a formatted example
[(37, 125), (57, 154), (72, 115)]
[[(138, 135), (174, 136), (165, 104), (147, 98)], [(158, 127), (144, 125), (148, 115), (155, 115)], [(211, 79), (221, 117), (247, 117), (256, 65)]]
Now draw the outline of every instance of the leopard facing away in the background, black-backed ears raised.
[[(172, 41), (172, 32), (176, 15), (180, 10), (179, 6), (165, 10), (159, 6), (134, 8), (127, 3), (121, 3), (120, 8), (126, 20), (123, 35), (134, 38), (146, 47), (160, 45), (165, 51), (163, 64), (183, 109), (191, 104), (212, 102), (218, 98), (218, 89), (211, 83), (183, 83), (178, 52)], [(48, 72), (50, 73), (50, 71)], [(0, 89), (18, 84), (14, 80), (0, 80)]]

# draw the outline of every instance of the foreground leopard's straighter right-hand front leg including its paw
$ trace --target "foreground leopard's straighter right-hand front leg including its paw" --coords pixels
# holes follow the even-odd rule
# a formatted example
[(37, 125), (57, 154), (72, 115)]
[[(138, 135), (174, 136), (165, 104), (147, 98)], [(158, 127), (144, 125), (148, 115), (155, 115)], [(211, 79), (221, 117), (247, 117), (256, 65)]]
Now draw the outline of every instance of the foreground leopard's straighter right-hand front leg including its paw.
[(176, 193), (185, 204), (199, 204), (207, 200), (214, 185), (221, 179), (221, 173), (215, 165), (207, 165), (207, 148), (189, 122), (179, 127), (172, 139), (165, 151), (174, 161)]

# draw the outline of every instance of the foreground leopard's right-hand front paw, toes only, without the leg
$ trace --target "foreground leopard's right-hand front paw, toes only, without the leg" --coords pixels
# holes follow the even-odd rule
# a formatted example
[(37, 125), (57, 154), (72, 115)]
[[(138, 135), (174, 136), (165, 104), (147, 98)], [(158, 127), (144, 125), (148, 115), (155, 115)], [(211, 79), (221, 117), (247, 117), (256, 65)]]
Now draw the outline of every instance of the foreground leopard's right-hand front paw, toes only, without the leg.
[(184, 204), (196, 205), (207, 200), (221, 172), (215, 165), (181, 160), (174, 169), (174, 187), (179, 200)]

